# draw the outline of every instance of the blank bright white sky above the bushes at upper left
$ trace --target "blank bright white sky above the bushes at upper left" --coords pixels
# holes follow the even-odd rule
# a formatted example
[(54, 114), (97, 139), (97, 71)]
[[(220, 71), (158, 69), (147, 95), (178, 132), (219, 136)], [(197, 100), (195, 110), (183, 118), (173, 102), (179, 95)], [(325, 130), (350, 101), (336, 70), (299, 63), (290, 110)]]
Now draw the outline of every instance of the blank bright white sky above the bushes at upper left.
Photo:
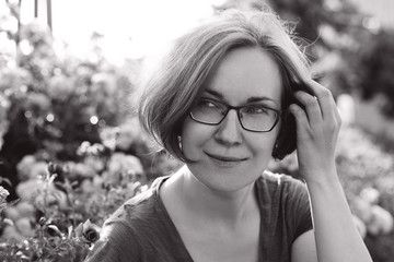
[[(223, 0), (53, 0), (53, 28), (58, 39), (82, 51), (93, 31), (105, 36), (112, 56), (139, 57), (158, 48)], [(38, 0), (38, 17), (46, 22), (46, 0)], [(34, 16), (34, 1), (22, 1), (21, 21)], [(130, 40), (131, 37), (131, 40)], [(120, 55), (121, 53), (121, 55)]]

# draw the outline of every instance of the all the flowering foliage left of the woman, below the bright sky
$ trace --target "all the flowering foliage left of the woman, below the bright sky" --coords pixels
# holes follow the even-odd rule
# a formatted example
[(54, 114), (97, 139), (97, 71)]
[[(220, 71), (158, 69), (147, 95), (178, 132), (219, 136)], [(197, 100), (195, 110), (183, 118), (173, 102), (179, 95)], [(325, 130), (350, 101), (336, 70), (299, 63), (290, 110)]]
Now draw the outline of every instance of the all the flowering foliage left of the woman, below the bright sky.
[(1, 261), (83, 261), (105, 218), (178, 166), (152, 153), (130, 110), (136, 72), (111, 64), (101, 37), (76, 58), (33, 22), (0, 52)]

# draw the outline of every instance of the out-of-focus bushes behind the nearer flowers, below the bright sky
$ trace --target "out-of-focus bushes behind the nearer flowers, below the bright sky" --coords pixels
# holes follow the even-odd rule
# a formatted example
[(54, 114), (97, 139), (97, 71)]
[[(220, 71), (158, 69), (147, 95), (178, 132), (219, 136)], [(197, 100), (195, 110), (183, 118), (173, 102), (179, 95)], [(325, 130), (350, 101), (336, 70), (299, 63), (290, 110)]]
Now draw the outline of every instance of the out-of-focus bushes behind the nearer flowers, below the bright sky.
[(76, 58), (33, 22), (21, 27), (15, 55), (2, 57), (9, 61), (0, 71), (0, 172), (13, 184), (24, 155), (40, 151), (47, 160), (78, 160), (83, 141), (100, 142), (103, 129), (132, 117), (134, 80), (107, 61), (100, 37), (92, 36), (85, 58)]

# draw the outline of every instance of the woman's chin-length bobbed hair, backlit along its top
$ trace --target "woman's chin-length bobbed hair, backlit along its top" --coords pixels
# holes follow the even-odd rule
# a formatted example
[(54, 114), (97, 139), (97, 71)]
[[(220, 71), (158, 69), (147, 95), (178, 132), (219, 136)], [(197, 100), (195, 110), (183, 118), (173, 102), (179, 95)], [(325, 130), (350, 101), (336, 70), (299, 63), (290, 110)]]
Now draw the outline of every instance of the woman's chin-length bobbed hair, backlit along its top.
[[(277, 62), (283, 86), (282, 110), (311, 78), (309, 62), (294, 41), (291, 26), (270, 11), (228, 10), (177, 38), (160, 63), (141, 82), (142, 128), (174, 157), (186, 160), (179, 135), (209, 74), (235, 48), (262, 48)], [(273, 156), (282, 159), (296, 148), (296, 121), (283, 114)]]

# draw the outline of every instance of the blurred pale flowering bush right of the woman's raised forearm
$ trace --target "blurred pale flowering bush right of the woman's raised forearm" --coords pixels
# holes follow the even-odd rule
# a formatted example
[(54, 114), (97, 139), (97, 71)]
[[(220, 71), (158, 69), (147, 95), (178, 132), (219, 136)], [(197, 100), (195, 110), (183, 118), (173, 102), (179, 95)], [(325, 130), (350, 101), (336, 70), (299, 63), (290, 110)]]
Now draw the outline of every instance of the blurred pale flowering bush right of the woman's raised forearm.
[(373, 136), (355, 128), (341, 131), (337, 168), (352, 212), (367, 226), (373, 261), (394, 257), (394, 157)]

